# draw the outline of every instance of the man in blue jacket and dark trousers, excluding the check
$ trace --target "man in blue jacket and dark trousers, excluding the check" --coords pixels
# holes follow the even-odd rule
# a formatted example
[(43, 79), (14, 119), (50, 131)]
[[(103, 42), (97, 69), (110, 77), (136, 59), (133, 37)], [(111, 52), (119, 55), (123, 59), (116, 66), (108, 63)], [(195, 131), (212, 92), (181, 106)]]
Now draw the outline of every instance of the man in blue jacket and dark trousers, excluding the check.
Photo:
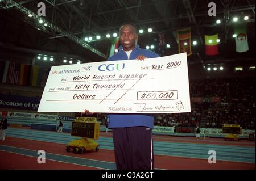
[[(151, 50), (139, 48), (134, 24), (125, 23), (119, 29), (118, 53), (108, 58), (116, 60), (144, 60), (159, 57)], [(85, 113), (89, 113), (85, 110)], [(108, 128), (113, 131), (117, 169), (154, 169), (152, 129), (154, 117), (146, 114), (109, 114)]]

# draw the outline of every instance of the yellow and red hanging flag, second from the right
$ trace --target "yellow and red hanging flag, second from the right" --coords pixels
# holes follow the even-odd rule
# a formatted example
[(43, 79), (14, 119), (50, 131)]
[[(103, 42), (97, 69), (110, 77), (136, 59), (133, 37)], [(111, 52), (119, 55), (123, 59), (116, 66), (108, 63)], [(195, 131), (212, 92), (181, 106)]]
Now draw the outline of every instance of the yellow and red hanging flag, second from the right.
[(218, 33), (216, 27), (204, 28), (205, 54), (214, 56), (218, 54)]

